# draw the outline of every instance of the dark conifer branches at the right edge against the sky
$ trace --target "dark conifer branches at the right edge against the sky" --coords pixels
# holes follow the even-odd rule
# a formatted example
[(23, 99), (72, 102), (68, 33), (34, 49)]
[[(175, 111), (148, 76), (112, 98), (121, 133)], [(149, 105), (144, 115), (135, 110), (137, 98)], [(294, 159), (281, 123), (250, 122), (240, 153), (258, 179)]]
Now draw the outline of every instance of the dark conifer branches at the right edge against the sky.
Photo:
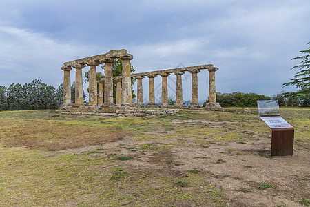
[[(310, 45), (309, 43), (307, 43)], [(296, 88), (308, 88), (310, 87), (310, 47), (306, 50), (300, 50), (303, 56), (294, 57), (293, 59), (298, 59), (301, 61), (301, 64), (298, 66), (294, 66), (292, 69), (298, 69), (296, 75), (293, 76), (288, 83), (283, 83), (283, 86), (295, 86)], [(292, 59), (292, 60), (293, 60)]]

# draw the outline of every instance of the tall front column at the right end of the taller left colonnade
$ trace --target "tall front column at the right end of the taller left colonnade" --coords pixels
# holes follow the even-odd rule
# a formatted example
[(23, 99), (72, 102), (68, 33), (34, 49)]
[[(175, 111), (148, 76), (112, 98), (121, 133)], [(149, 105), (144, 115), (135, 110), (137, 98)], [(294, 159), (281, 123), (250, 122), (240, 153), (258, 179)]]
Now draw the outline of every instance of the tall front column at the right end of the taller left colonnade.
[(132, 103), (132, 78), (130, 75), (130, 60), (132, 55), (126, 54), (120, 57), (123, 60), (123, 77), (122, 77), (122, 103)]

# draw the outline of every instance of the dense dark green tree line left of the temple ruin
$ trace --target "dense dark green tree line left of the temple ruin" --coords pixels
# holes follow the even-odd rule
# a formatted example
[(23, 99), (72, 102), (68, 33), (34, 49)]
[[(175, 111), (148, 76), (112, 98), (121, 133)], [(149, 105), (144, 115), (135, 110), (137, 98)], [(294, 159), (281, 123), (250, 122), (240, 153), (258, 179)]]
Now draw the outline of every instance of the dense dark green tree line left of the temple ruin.
[[(71, 86), (75, 101), (75, 83)], [(84, 95), (85, 97), (85, 95)], [(0, 86), (0, 110), (58, 109), (63, 104), (63, 83), (58, 88), (34, 79), (31, 83)]]

